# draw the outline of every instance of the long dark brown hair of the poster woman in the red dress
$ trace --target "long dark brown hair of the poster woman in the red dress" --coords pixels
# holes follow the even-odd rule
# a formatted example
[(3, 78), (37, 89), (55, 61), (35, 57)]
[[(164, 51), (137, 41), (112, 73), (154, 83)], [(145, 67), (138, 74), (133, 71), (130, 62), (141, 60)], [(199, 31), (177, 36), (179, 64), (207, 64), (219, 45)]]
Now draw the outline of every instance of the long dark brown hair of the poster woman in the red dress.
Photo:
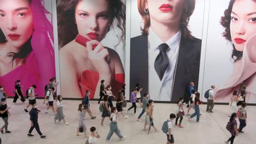
[[(121, 0), (107, 0), (110, 10), (110, 29), (117, 26), (121, 35), (116, 35), (119, 39), (118, 44), (121, 42), (125, 46), (125, 13), (126, 7)], [(65, 46), (70, 41), (75, 39), (78, 34), (77, 25), (75, 25), (75, 6), (79, 0), (57, 0), (57, 25), (59, 35), (59, 48)], [(117, 46), (115, 45), (115, 46)]]

